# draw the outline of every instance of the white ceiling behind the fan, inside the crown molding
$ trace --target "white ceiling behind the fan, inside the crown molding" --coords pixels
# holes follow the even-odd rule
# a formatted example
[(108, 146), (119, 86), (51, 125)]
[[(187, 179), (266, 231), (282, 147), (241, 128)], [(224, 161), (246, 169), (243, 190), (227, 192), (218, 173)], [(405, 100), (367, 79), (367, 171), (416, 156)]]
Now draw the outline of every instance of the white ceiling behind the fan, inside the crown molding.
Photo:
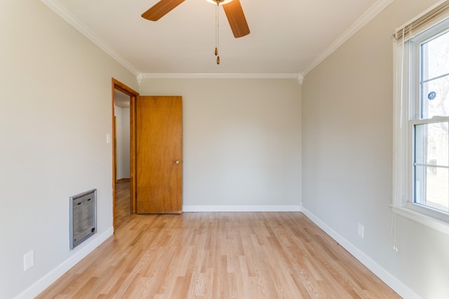
[(139, 74), (304, 74), (393, 0), (241, 0), (250, 34), (235, 39), (220, 8), (186, 0), (157, 22), (159, 0), (41, 0)]

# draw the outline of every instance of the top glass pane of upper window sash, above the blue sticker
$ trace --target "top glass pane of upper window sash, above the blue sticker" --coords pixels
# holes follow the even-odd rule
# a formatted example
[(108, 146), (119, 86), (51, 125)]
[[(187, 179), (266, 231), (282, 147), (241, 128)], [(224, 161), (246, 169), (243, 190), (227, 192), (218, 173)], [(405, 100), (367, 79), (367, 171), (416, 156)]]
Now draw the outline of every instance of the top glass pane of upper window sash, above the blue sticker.
[(423, 43), (421, 51), (422, 81), (449, 74), (449, 32)]

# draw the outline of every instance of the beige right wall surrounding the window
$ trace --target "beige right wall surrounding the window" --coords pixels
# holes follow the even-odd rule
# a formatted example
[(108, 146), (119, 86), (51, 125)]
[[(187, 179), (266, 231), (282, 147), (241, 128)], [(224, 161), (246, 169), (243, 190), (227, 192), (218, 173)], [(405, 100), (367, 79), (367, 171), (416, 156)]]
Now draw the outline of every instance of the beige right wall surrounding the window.
[[(449, 238), (398, 216), (392, 250), (394, 29), (435, 0), (396, 0), (319, 64), (302, 85), (304, 211), (394, 275), (396, 289), (449, 298)], [(357, 235), (358, 223), (365, 238)], [(395, 282), (395, 280), (397, 281)]]

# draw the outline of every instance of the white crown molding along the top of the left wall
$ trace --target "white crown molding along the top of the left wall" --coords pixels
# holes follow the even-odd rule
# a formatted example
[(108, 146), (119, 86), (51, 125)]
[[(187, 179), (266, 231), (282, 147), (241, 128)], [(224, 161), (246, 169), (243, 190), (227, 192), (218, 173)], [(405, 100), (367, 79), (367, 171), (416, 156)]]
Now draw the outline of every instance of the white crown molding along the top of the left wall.
[(57, 0), (41, 0), (43, 4), (48, 6), (53, 12), (55, 12), (57, 15), (59, 15), (63, 20), (65, 20), (67, 23), (72, 25), (76, 30), (81, 32), (84, 36), (86, 36), (88, 39), (90, 39), (95, 45), (97, 45), (100, 49), (105, 51), (109, 56), (114, 58), (116, 62), (119, 62), (123, 67), (128, 69), (131, 73), (133, 73), (136, 77), (139, 76), (140, 71), (135, 69), (133, 65), (131, 65), (129, 62), (127, 62), (119, 53), (116, 53), (115, 50), (113, 50), (105, 41), (102, 41), (100, 37), (96, 34), (94, 34), (91, 29), (89, 29), (86, 25), (83, 24), (80, 20), (75, 18), (72, 13), (67, 11), (67, 8), (62, 6)]

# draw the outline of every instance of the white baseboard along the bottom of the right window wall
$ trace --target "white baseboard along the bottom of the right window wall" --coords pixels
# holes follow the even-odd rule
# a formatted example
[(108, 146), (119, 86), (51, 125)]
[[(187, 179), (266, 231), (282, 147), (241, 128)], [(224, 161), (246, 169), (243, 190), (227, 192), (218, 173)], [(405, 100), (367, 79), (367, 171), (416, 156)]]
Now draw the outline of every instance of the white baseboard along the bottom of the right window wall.
[(369, 256), (367, 256), (363, 251), (358, 249), (356, 246), (351, 244), (347, 239), (344, 239), (340, 234), (335, 232), (332, 228), (330, 228), (326, 223), (321, 221), (314, 214), (311, 214), (310, 211), (302, 207), (302, 213), (307, 216), (312, 222), (319, 226), (322, 230), (324, 230), (331, 238), (335, 239), (335, 241), (340, 244), (344, 249), (346, 249), (349, 253), (354, 256), (358, 261), (360, 261), (363, 265), (365, 265), (371, 272), (373, 272), (377, 277), (379, 277), (385, 284), (387, 284), (390, 288), (392, 288), (396, 293), (398, 293), (402, 298), (408, 299), (422, 299), (417, 293), (412, 291), (408, 286), (399, 281), (396, 277), (391, 275), (390, 272), (385, 270), (379, 264), (377, 264), (374, 260), (372, 260)]

